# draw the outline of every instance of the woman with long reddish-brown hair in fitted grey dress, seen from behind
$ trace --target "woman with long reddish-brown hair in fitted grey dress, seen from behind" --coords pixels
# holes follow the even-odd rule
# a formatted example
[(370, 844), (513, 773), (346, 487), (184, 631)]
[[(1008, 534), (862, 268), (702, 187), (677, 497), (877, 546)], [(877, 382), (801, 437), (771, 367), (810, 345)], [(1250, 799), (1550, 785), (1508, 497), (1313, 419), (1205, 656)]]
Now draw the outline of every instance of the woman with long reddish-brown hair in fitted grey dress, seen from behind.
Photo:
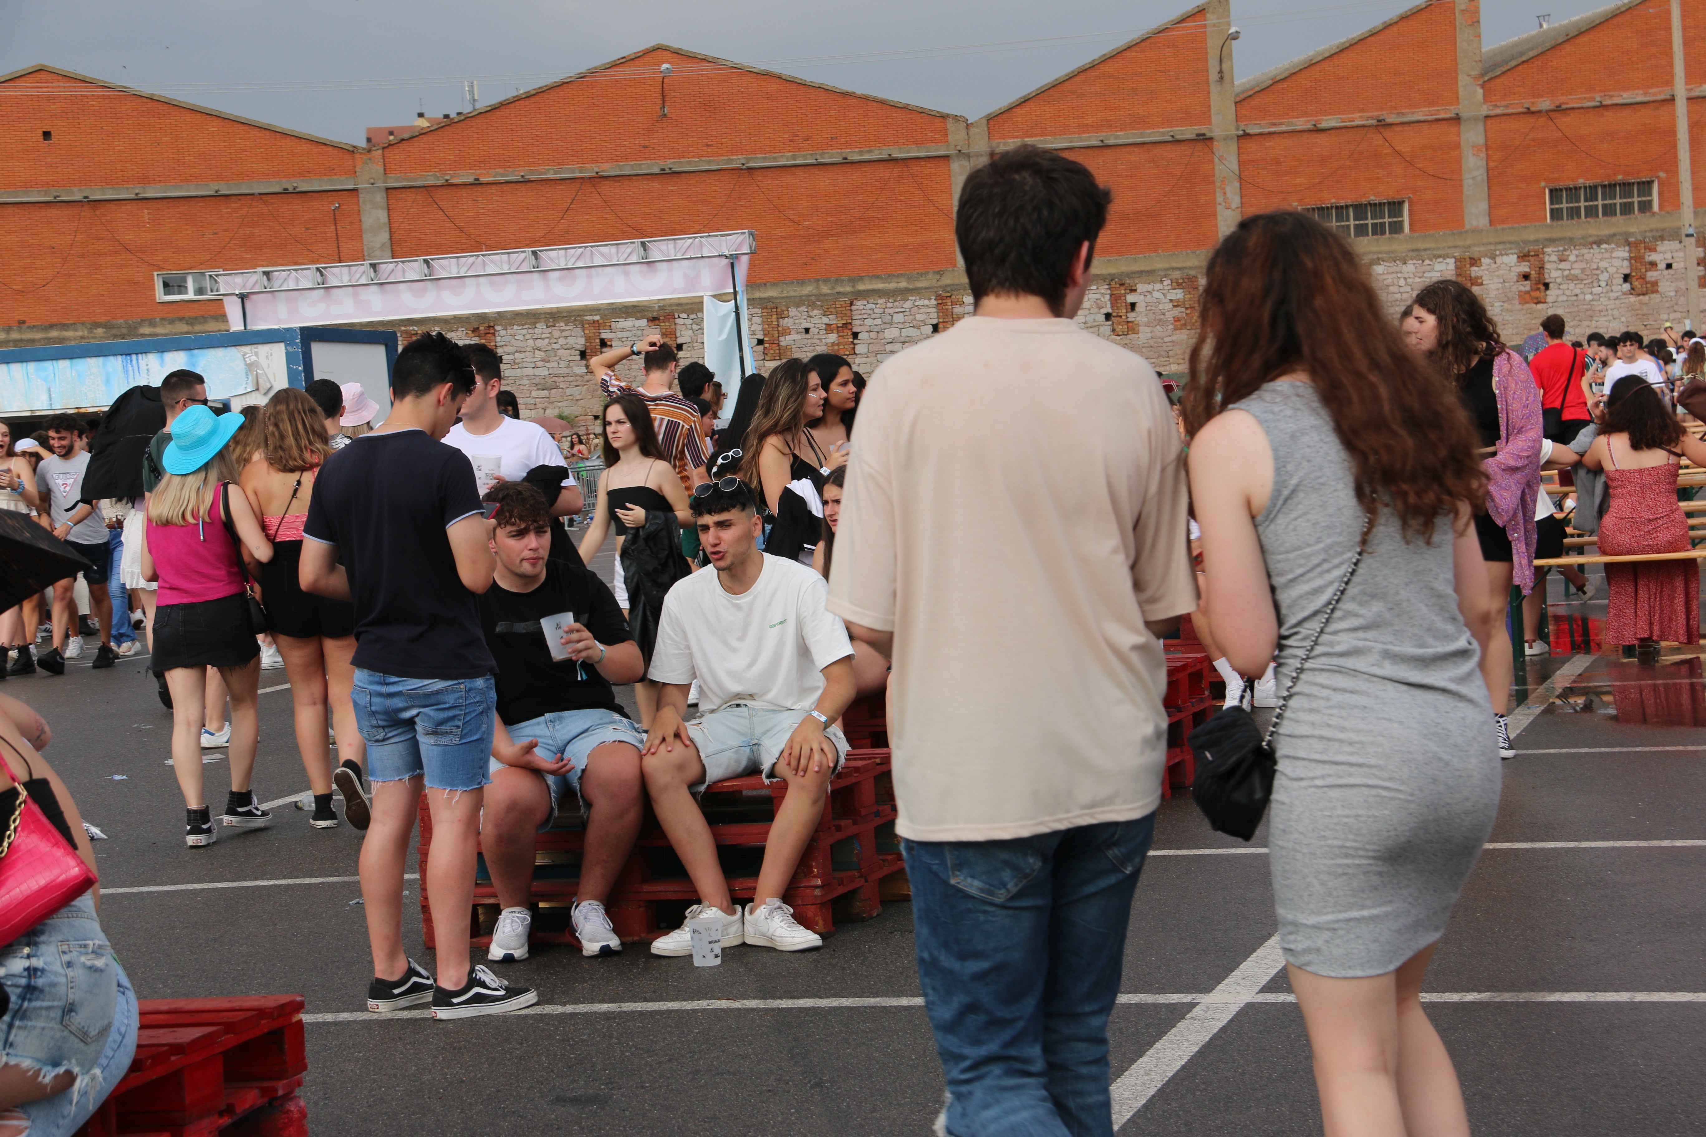
[(1201, 327), (1184, 414), (1216, 638), (1245, 675), (1276, 658), (1281, 695), (1298, 678), (1269, 859), (1326, 1132), (1464, 1135), (1418, 996), (1500, 794), (1476, 433), (1349, 244), (1302, 213), (1220, 244)]

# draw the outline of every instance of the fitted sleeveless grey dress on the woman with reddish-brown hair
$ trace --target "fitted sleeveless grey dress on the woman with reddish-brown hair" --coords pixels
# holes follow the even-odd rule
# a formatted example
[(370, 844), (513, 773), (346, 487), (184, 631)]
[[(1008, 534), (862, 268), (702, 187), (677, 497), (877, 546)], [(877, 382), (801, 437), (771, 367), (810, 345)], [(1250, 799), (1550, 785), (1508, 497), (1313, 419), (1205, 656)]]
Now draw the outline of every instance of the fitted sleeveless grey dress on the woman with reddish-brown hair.
[[(1237, 404), (1268, 433), (1256, 532), (1280, 615), (1283, 694), (1349, 568), (1365, 513), (1315, 389)], [(1280, 946), (1315, 975), (1384, 975), (1445, 932), (1498, 811), (1479, 651), (1457, 610), (1452, 528), (1404, 540), (1380, 511), (1356, 576), (1298, 678), (1274, 750), (1269, 864)]]

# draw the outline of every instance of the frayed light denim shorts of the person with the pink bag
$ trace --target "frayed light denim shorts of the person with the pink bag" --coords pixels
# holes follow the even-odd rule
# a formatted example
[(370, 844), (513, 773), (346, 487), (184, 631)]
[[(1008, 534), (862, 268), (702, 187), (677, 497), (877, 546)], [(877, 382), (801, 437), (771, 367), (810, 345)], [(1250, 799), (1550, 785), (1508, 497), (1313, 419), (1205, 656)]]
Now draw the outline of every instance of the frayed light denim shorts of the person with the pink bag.
[(89, 895), (0, 946), (0, 982), (10, 996), (0, 1060), (49, 1077), (77, 1074), (65, 1093), (19, 1110), (32, 1135), (68, 1135), (113, 1093), (136, 1052), (136, 994)]

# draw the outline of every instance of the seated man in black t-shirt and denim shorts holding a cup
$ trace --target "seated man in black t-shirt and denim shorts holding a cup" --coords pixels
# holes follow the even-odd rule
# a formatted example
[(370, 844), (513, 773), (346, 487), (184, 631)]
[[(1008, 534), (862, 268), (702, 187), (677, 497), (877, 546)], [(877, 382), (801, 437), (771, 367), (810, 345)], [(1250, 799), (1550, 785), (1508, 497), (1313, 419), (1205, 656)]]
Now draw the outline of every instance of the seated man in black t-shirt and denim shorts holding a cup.
[(551, 508), (527, 482), (498, 482), (491, 549), (496, 576), (479, 597), (479, 624), (498, 663), (498, 724), (481, 847), (496, 888), (498, 926), (486, 958), (527, 958), (534, 834), (551, 828), (573, 788), (590, 806), (570, 919), (587, 956), (623, 941), (604, 902), (640, 835), (640, 747), (611, 684), (645, 675), (616, 597), (578, 564), (551, 561)]

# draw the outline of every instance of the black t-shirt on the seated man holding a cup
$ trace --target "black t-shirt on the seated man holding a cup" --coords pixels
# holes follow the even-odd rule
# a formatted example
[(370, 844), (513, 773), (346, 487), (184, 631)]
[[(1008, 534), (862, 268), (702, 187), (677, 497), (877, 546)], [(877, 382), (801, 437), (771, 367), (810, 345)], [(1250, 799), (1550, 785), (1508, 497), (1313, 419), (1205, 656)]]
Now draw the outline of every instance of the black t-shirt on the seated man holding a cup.
[(573, 612), (575, 622), (606, 648), (633, 639), (609, 586), (566, 561), (546, 561), (544, 581), (532, 592), (508, 592), (493, 581), (479, 597), (479, 626), (498, 661), (498, 718), (505, 724), (560, 711), (628, 714), (595, 667), (551, 658), (541, 620), (561, 612)]

